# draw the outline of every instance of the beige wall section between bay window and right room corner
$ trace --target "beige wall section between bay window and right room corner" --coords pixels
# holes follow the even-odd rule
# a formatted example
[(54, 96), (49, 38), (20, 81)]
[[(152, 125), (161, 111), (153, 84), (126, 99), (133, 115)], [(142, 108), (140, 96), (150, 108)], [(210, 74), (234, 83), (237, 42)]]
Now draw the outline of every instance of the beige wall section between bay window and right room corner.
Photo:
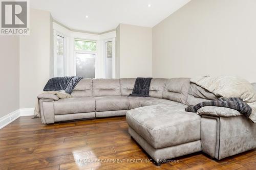
[(152, 28), (121, 23), (116, 53), (120, 78), (152, 77)]

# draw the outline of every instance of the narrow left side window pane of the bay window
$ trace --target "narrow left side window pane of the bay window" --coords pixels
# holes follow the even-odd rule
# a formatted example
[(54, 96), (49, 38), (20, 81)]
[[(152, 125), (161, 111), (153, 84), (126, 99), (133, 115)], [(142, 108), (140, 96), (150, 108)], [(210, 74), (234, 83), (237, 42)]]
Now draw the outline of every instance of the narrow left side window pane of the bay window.
[(56, 77), (64, 76), (64, 38), (57, 35)]

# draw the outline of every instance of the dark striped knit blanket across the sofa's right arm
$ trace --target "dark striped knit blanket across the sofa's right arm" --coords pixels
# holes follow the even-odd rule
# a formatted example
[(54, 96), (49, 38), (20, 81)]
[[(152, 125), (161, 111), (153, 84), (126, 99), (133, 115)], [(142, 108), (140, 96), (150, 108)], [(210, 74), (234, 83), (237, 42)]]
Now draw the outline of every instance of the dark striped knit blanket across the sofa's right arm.
[(219, 98), (214, 101), (201, 102), (195, 106), (188, 106), (185, 110), (187, 112), (197, 112), (198, 109), (204, 106), (218, 106), (234, 109), (245, 115), (247, 118), (252, 112), (251, 107), (240, 98)]

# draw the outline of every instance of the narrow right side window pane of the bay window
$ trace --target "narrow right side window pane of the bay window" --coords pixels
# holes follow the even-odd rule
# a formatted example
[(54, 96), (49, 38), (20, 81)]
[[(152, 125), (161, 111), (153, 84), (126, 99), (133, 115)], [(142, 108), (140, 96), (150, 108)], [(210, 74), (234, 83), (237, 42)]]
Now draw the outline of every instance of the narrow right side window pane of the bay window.
[(106, 42), (106, 78), (112, 79), (112, 41)]

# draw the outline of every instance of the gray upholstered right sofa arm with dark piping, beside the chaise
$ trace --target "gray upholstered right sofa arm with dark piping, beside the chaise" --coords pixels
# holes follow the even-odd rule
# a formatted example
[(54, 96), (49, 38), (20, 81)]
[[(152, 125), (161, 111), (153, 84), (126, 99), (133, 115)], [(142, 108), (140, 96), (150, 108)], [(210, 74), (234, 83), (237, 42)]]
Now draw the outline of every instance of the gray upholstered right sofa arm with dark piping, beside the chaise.
[[(209, 123), (210, 121), (211, 123)], [(214, 130), (215, 128), (217, 129)], [(214, 138), (216, 138), (216, 142), (212, 142)], [(255, 148), (255, 138), (256, 126), (244, 116), (212, 117), (203, 115), (201, 118), (202, 150), (210, 156), (214, 155), (216, 159), (220, 160)]]

